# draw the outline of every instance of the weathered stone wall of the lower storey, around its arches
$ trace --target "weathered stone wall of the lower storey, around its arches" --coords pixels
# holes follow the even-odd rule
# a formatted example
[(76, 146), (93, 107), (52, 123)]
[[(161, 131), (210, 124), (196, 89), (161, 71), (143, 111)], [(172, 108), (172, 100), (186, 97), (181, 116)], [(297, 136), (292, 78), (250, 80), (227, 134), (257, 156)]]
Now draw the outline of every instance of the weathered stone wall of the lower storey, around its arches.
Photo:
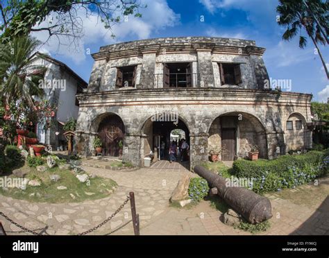
[[(92, 155), (92, 138), (101, 121), (100, 115), (114, 113), (121, 117), (125, 125), (124, 160), (130, 160), (135, 165), (142, 164), (142, 159), (149, 154), (151, 136), (145, 135), (144, 126), (149, 126), (146, 122), (157, 113), (178, 112), (180, 119), (187, 125), (192, 166), (208, 160), (214, 130), (217, 130), (212, 125), (215, 119), (223, 114), (247, 114), (249, 121), (251, 117), (255, 117), (255, 121), (262, 124), (264, 133), (258, 134), (259, 128), (256, 127), (254, 133), (251, 129), (247, 130), (245, 138), (253, 139), (263, 146), (262, 148), (266, 148), (261, 152), (268, 151), (269, 157), (285, 153), (285, 128), (282, 125), (285, 124), (286, 117), (298, 112), (305, 121), (310, 121), (310, 95), (305, 94), (282, 93), (277, 96), (275, 92), (192, 88), (153, 89), (152, 92), (134, 89), (104, 94), (81, 94), (78, 97), (81, 107), (76, 150), (80, 150), (84, 155)], [(254, 121), (251, 120), (251, 123)], [(239, 126), (240, 133), (243, 129), (242, 124)]]

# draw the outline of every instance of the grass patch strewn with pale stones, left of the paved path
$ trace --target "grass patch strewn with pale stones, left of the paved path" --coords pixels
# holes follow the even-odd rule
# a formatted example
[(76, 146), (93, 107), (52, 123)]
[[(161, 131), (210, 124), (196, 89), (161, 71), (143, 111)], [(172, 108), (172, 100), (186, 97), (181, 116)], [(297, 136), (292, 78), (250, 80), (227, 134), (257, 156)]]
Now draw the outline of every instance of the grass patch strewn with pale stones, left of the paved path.
[[(60, 180), (58, 182), (51, 181), (50, 175), (60, 175)], [(15, 176), (8, 175), (8, 177), (13, 178)], [(8, 191), (0, 188), (0, 194), (38, 203), (78, 203), (84, 200), (105, 198), (110, 195), (112, 188), (117, 186), (115, 181), (99, 177), (90, 178), (87, 182), (80, 182), (75, 173), (67, 169), (58, 169), (58, 167), (47, 169), (44, 172), (37, 171), (32, 167), (26, 178), (38, 180), (41, 182), (41, 186), (32, 187), (27, 184), (25, 190), (8, 188)], [(60, 186), (67, 187), (67, 189), (57, 189)]]

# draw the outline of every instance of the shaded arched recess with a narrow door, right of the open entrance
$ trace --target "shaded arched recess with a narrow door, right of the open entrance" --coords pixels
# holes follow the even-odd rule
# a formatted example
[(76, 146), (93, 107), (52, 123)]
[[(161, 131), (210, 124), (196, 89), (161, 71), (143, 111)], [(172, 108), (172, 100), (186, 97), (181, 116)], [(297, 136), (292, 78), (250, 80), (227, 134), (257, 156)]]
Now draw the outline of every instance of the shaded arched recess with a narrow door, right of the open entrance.
[(209, 128), (208, 150), (221, 148), (223, 160), (245, 157), (251, 146), (258, 146), (260, 157), (267, 158), (267, 136), (260, 120), (246, 112), (228, 112), (212, 121)]

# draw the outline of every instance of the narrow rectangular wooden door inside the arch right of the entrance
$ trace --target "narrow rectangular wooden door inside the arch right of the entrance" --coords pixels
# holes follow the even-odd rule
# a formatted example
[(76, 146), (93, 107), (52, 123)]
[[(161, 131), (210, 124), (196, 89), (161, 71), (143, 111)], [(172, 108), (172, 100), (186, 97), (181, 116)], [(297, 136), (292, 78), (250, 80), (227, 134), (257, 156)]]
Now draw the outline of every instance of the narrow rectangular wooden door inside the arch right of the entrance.
[(234, 160), (235, 156), (235, 129), (222, 129), (221, 130), (221, 159)]

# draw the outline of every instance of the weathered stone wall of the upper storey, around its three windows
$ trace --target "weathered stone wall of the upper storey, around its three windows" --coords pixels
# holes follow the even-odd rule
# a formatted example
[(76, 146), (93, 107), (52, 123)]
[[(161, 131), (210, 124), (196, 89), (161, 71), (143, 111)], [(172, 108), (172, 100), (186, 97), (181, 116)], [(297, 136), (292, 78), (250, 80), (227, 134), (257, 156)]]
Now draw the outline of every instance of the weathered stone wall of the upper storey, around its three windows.
[(115, 90), (117, 67), (137, 65), (138, 89), (163, 87), (163, 63), (192, 62), (192, 87), (223, 87), (218, 62), (240, 63), (242, 83), (226, 85), (263, 89), (268, 78), (264, 49), (251, 40), (217, 37), (173, 37), (103, 46), (95, 59), (88, 92)]

